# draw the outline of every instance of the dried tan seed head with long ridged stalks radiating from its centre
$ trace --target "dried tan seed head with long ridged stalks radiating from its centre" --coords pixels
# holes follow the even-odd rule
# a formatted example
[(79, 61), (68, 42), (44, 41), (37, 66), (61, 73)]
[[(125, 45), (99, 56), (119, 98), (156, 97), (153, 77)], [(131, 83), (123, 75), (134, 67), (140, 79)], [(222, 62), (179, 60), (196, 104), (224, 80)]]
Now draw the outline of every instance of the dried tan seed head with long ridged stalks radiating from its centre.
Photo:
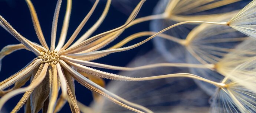
[[(60, 40), (58, 45), (55, 47), (56, 42), (56, 31), (57, 31), (57, 23), (58, 23), (58, 15), (60, 11), (60, 6), (62, 0), (58, 0), (53, 23), (52, 23), (52, 35), (51, 35), (51, 44), (50, 48), (47, 46), (45, 38), (43, 36), (43, 32), (40, 28), (39, 20), (36, 15), (35, 8), (30, 0), (26, 0), (27, 5), (29, 6), (29, 10), (32, 16), (33, 25), (35, 27), (35, 31), (37, 37), (41, 43), (38, 45), (29, 41), (28, 39), (24, 38), (20, 35), (3, 17), (0, 16), (0, 25), (4, 29), (6, 29), (9, 33), (11, 33), (16, 39), (18, 39), (22, 44), (13, 45), (13, 46), (6, 46), (6, 50), (0, 52), (0, 60), (19, 49), (27, 49), (32, 51), (36, 54), (37, 58), (32, 60), (26, 67), (20, 70), (18, 73), (12, 75), (11, 77), (7, 78), (3, 82), (0, 82), (0, 90), (3, 94), (7, 93), (0, 99), (0, 109), (3, 107), (3, 104), (10, 98), (20, 93), (24, 93), (22, 99), (19, 103), (14, 107), (12, 110), (13, 113), (17, 112), (25, 103), (26, 104), (26, 111), (31, 112), (38, 112), (40, 109), (43, 111), (47, 111), (47, 113), (58, 112), (61, 107), (66, 103), (69, 103), (72, 112), (79, 113), (79, 106), (78, 102), (75, 97), (75, 89), (74, 89), (74, 80), (78, 81), (86, 88), (90, 89), (95, 93), (99, 93), (106, 98), (110, 99), (112, 102), (125, 107), (129, 110), (135, 112), (147, 112), (151, 113), (152, 111), (145, 108), (144, 106), (137, 105), (135, 103), (129, 102), (109, 91), (104, 89), (104, 80), (102, 78), (112, 79), (112, 80), (126, 80), (126, 81), (144, 81), (144, 80), (155, 80), (160, 78), (170, 78), (170, 77), (189, 77), (194, 78), (197, 80), (205, 81), (210, 84), (216, 85), (220, 88), (226, 87), (224, 83), (218, 83), (214, 81), (210, 81), (204, 78), (201, 78), (197, 75), (193, 74), (169, 74), (169, 75), (161, 75), (161, 76), (153, 76), (153, 77), (144, 77), (144, 78), (131, 78), (125, 77), (121, 75), (115, 75), (106, 73), (103, 71), (95, 70), (90, 67), (99, 67), (99, 68), (108, 68), (112, 70), (141, 70), (146, 68), (154, 68), (154, 67), (163, 67), (163, 66), (179, 66), (179, 67), (194, 67), (194, 68), (213, 68), (208, 65), (200, 65), (200, 64), (171, 64), (171, 63), (160, 63), (160, 64), (152, 64), (147, 66), (141, 67), (118, 67), (118, 66), (110, 66), (105, 64), (93, 63), (88, 60), (95, 60), (108, 54), (115, 53), (115, 52), (122, 52), (125, 50), (133, 49), (142, 45), (143, 43), (147, 42), (148, 40), (154, 38), (155, 36), (159, 35), (163, 38), (171, 39), (176, 42), (182, 43), (182, 40), (175, 39), (171, 36), (161, 34), (164, 31), (174, 27), (171, 26), (166, 28), (160, 32), (141, 32), (135, 35), (128, 37), (127, 39), (123, 40), (122, 42), (112, 46), (108, 50), (101, 50), (104, 46), (108, 45), (108, 43), (112, 42), (116, 39), (122, 32), (124, 32), (125, 28), (130, 27), (131, 25), (137, 24), (142, 21), (150, 20), (147, 18), (142, 18), (141, 20), (135, 20), (136, 15), (138, 14), (142, 4), (145, 0), (141, 0), (141, 2), (135, 7), (134, 11), (131, 13), (127, 21), (124, 25), (112, 29), (110, 31), (98, 34), (96, 36), (90, 35), (99, 27), (99, 25), (104, 20), (106, 14), (108, 13), (108, 9), (111, 3), (111, 0), (108, 0), (105, 6), (105, 9), (99, 18), (99, 20), (86, 32), (81, 38), (78, 39), (73, 45), (73, 41), (75, 40), (78, 33), (81, 31), (83, 26), (86, 24), (88, 19), (91, 17), (93, 11), (95, 10), (99, 0), (96, 0), (93, 4), (89, 13), (85, 16), (81, 24), (75, 30), (73, 35), (69, 38), (67, 43), (64, 43), (66, 40), (66, 32), (68, 31), (69, 25), (69, 18), (71, 12), (71, 0), (68, 0), (65, 19), (63, 22), (62, 32), (60, 35)], [(225, 4), (225, 3), (224, 3)], [(158, 17), (157, 17), (158, 18)], [(198, 22), (200, 23), (200, 22)], [(214, 22), (207, 22), (213, 23)], [(225, 23), (224, 23), (225, 24)], [(132, 46), (123, 47), (125, 43), (129, 42), (134, 38), (138, 38), (140, 36), (152, 35), (146, 40), (143, 40), (140, 43), (137, 43)], [(90, 67), (87, 67), (90, 66)], [(31, 84), (27, 87), (20, 88), (22, 84), (26, 83), (31, 77), (32, 81)], [(24, 80), (24, 81), (23, 81)], [(14, 84), (14, 88), (3, 91), (5, 88), (9, 87), (10, 85)], [(18, 84), (16, 84), (18, 83)], [(62, 90), (62, 95), (58, 98), (58, 89), (59, 87)], [(43, 91), (44, 90), (44, 91)], [(44, 95), (42, 95), (42, 93)], [(94, 96), (98, 98), (98, 96)], [(58, 100), (58, 101), (57, 101)], [(27, 102), (26, 102), (27, 101)], [(30, 106), (28, 105), (30, 103)], [(55, 106), (56, 105), (56, 106)]]

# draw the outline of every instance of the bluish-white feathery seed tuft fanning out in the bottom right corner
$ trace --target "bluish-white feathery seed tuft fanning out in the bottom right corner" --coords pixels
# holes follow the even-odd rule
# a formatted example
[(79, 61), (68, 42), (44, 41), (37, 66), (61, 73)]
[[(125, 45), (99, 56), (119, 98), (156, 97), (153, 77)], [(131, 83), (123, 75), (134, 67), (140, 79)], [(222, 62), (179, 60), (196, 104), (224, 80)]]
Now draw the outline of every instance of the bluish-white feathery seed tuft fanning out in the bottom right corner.
[(211, 112), (254, 113), (256, 112), (256, 92), (244, 84), (225, 78), (225, 88), (218, 88), (211, 98)]

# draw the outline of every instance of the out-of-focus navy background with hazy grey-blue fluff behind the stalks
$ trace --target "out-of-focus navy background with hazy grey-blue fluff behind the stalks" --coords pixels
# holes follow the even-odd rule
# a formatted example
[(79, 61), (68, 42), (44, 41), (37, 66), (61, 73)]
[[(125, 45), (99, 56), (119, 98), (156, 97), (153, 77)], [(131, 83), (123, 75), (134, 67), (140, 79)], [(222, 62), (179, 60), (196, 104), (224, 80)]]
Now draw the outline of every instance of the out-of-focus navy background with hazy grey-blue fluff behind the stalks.
[[(55, 10), (57, 0), (31, 0), (37, 11), (37, 15), (42, 27), (42, 31), (46, 38), (48, 45), (50, 44), (50, 33), (52, 27), (52, 18)], [(218, 1), (218, 0), (216, 0)], [(72, 1), (72, 13), (70, 17), (69, 29), (67, 38), (69, 38), (76, 27), (80, 24), (83, 18), (86, 16), (88, 11), (91, 9), (94, 0), (73, 0)], [(109, 12), (101, 24), (101, 26), (92, 34), (92, 36), (99, 33), (109, 31), (116, 27), (119, 27), (125, 23), (129, 14), (132, 12), (133, 8), (140, 2), (140, 0), (112, 0), (112, 5)], [(207, 10), (201, 13), (196, 13), (194, 15), (200, 14), (214, 14), (214, 13), (224, 13), (227, 11), (232, 11), (236, 9), (243, 8), (250, 0), (242, 0), (239, 3), (230, 4), (229, 6), (223, 6), (217, 8), (217, 10)], [(162, 13), (165, 9), (168, 0), (147, 0), (142, 6), (140, 13), (137, 18), (144, 17), (151, 14)], [(100, 3), (96, 7), (95, 12), (92, 14), (89, 21), (85, 24), (82, 31), (77, 36), (77, 39), (83, 35), (100, 17), (102, 11), (104, 10), (106, 0), (100, 0)], [(216, 8), (215, 8), (216, 9)], [(66, 10), (66, 0), (62, 1), (62, 7), (60, 10), (60, 16), (58, 20), (57, 38), (60, 35), (60, 29), (62, 28), (62, 22)], [(22, 34), (27, 39), (39, 43), (36, 37), (35, 30), (33, 28), (32, 20), (29, 13), (29, 8), (24, 0), (0, 0), (0, 15), (3, 16), (20, 34)], [(156, 20), (147, 21), (140, 24), (134, 25), (125, 30), (122, 35), (120, 35), (114, 42), (110, 43), (105, 48), (108, 48), (129, 35), (142, 31), (160, 31), (169, 25), (175, 24), (169, 20)], [(188, 32), (193, 29), (195, 25), (186, 28)], [(185, 38), (188, 32), (179, 29), (176, 32), (178, 38)], [(167, 32), (168, 34), (172, 32)], [(140, 42), (144, 38), (138, 38), (132, 40), (124, 46), (132, 45)], [(19, 43), (12, 35), (10, 35), (3, 28), (0, 28), (0, 49), (6, 45)], [(56, 41), (58, 42), (58, 41)], [(171, 49), (170, 49), (171, 48)], [(175, 49), (172, 49), (175, 48)], [(182, 51), (173, 42), (167, 42), (164, 39), (153, 39), (142, 46), (135, 49), (128, 50), (120, 53), (113, 53), (101, 59), (95, 60), (94, 62), (109, 64), (114, 66), (142, 66), (145, 64), (152, 63), (164, 63), (164, 62), (183, 62), (186, 60)], [(176, 59), (176, 56), (170, 54), (170, 50), (175, 53), (178, 58), (182, 58), (180, 61)], [(176, 54), (177, 53), (177, 54)], [(180, 57), (181, 56), (181, 57)], [(36, 56), (27, 50), (16, 51), (2, 60), (2, 68), (0, 72), (0, 80), (3, 81), (9, 76), (13, 75), (21, 68), (26, 66), (33, 58)], [(176, 59), (176, 60), (175, 60)], [(121, 74), (130, 77), (148, 77), (152, 75), (162, 75), (170, 73), (189, 73), (187, 68), (154, 68), (143, 71), (132, 71), (132, 72), (119, 72), (113, 70), (100, 69), (102, 71), (107, 71), (109, 73)], [(123, 82), (123, 81), (110, 81), (105, 80), (107, 86), (106, 88), (116, 93), (117, 95), (130, 100), (131, 102), (139, 103), (143, 106), (150, 108), (155, 112), (195, 112), (204, 113), (209, 110), (210, 106), (210, 96), (206, 91), (198, 87), (193, 80), (187, 78), (170, 78), (164, 80), (156, 81), (145, 81), (145, 82)], [(26, 85), (28, 85), (27, 83)], [(200, 84), (205, 85), (205, 84)], [(102, 100), (102, 102), (92, 102), (92, 93), (78, 82), (75, 82), (76, 98), (79, 102), (86, 106), (91, 106), (93, 109), (105, 112), (130, 112), (126, 109), (121, 108), (118, 105), (108, 101)], [(13, 107), (22, 97), (17, 95), (10, 99), (4, 109), (6, 111), (11, 111)], [(71, 112), (68, 103), (60, 111)], [(19, 111), (23, 112), (23, 109)]]

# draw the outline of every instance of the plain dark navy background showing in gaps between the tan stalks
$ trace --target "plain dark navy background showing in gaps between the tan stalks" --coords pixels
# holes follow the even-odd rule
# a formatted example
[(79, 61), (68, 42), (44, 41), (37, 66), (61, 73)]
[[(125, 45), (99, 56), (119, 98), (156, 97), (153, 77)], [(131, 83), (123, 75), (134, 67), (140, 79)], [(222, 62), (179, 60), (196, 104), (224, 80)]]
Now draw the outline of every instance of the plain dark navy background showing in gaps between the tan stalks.
[[(134, 0), (134, 1), (139, 3), (140, 0)], [(157, 1), (158, 0), (147, 0), (137, 17), (143, 17), (146, 15), (152, 14), (152, 10), (155, 4), (157, 3)], [(51, 33), (51, 27), (52, 27), (52, 18), (53, 18), (57, 0), (32, 0), (32, 3), (35, 6), (35, 9), (37, 11), (37, 15), (40, 21), (40, 25), (42, 27), (43, 34), (49, 45), (50, 33)], [(91, 7), (92, 7), (92, 3), (89, 0), (73, 0), (72, 13), (71, 13), (70, 24), (68, 29), (68, 37), (72, 35), (73, 31), (75, 31), (76, 27), (80, 24), (80, 22), (83, 20), (85, 15), (91, 9)], [(89, 29), (96, 22), (96, 20), (101, 15), (104, 7), (105, 7), (105, 0), (102, 0), (98, 4), (90, 20), (85, 24), (85, 27), (82, 29), (78, 37), (82, 36), (82, 34), (85, 33), (86, 30)], [(131, 6), (131, 7), (133, 8), (135, 6)], [(119, 7), (119, 8), (122, 8), (122, 7)], [(66, 0), (63, 0), (62, 7), (60, 10), (59, 22), (58, 22), (57, 38), (60, 34), (60, 30), (62, 27), (65, 10), (66, 10)], [(127, 14), (129, 13), (131, 12), (120, 12), (118, 8), (111, 6), (109, 13), (106, 16), (104, 22), (96, 30), (96, 32), (93, 33), (93, 35), (121, 26), (122, 24), (124, 24), (124, 22), (128, 18), (129, 15)], [(0, 0), (0, 15), (2, 15), (13, 26), (13, 28), (15, 28), (24, 37), (26, 37), (27, 39), (33, 42), (39, 43), (39, 40), (37, 39), (35, 30), (33, 28), (32, 20), (29, 13), (29, 8), (27, 7), (25, 0)], [(134, 25), (131, 28), (128, 28), (124, 33), (122, 33), (121, 36), (119, 36), (118, 39), (116, 39), (110, 45), (113, 45), (114, 43), (119, 42), (120, 40), (124, 39), (129, 35), (132, 35), (133, 33), (141, 32), (141, 31), (149, 31), (149, 22), (144, 22), (138, 25)], [(17, 41), (12, 35), (10, 35), (3, 28), (0, 28), (0, 39), (1, 39), (0, 49), (2, 49), (6, 45), (19, 43), (19, 41)], [(127, 45), (134, 44), (140, 40), (141, 39), (132, 41)], [(58, 40), (56, 42), (58, 42)], [(132, 49), (132, 50), (121, 52), (121, 53), (114, 53), (102, 59), (96, 60), (95, 62), (111, 64), (115, 66), (125, 66), (127, 63), (129, 63), (129, 61), (134, 59), (135, 56), (142, 55), (147, 51), (149, 51), (150, 49), (152, 49), (152, 43), (147, 42), (144, 45), (137, 47), (136, 49)], [(29, 63), (35, 57), (36, 56), (32, 52), (29, 52), (27, 50), (19, 50), (17, 52), (10, 54), (9, 56), (4, 57), (2, 61), (2, 69), (0, 72), (0, 76), (1, 76), (0, 80), (3, 81), (7, 77), (16, 73), (21, 68), (26, 66), (26, 64)], [(104, 70), (104, 71), (108, 71), (111, 73), (118, 72), (118, 71), (110, 71), (110, 70)], [(78, 100), (84, 103), (85, 105), (89, 105), (89, 103), (92, 101), (91, 91), (84, 88), (82, 85), (80, 85), (77, 82), (75, 82), (75, 85), (76, 85), (76, 97), (78, 98)], [(10, 112), (21, 97), (22, 97), (22, 94), (10, 99), (6, 103), (4, 108)], [(63, 107), (62, 111), (60, 112), (67, 112), (67, 111), (70, 112), (69, 109), (70, 108), (68, 104), (66, 104)], [(23, 109), (21, 109), (20, 112), (22, 113)]]

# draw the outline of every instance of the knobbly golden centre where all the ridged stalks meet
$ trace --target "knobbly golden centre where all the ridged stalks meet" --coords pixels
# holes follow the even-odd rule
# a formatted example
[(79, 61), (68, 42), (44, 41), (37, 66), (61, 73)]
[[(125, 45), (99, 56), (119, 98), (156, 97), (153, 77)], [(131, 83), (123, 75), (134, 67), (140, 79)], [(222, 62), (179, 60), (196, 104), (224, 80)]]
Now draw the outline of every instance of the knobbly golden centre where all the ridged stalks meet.
[(49, 64), (57, 64), (59, 63), (59, 55), (56, 51), (47, 50), (46, 52), (41, 52), (42, 55), (38, 56), (38, 59), (42, 59), (42, 63), (49, 63)]

